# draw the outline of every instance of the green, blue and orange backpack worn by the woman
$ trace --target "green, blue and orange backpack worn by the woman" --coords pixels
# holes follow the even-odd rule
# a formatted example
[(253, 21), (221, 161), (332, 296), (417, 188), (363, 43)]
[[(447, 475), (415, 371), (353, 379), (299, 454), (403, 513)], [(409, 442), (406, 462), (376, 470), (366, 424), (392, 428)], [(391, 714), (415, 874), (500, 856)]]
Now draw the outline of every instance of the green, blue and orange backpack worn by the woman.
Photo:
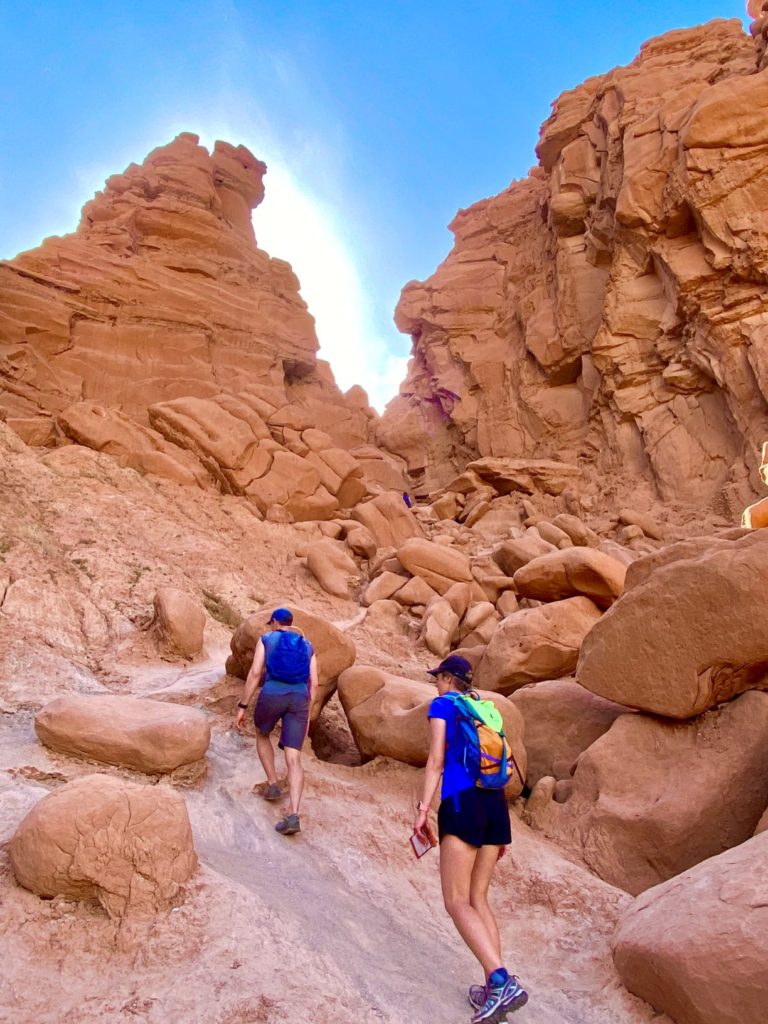
[(504, 720), (493, 700), (481, 700), (469, 693), (451, 694), (456, 708), (456, 724), (464, 744), (464, 767), (482, 790), (502, 790), (517, 772), (520, 783), (525, 780), (517, 767), (512, 748), (504, 734)]

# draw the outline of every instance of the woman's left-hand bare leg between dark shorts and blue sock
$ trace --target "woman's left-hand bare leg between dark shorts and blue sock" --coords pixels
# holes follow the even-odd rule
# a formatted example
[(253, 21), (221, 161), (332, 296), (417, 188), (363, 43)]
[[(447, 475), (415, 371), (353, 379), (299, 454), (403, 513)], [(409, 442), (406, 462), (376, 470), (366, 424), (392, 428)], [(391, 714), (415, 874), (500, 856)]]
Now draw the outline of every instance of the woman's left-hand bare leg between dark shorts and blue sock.
[[(481, 850), (494, 850), (497, 856), (499, 853), (498, 847), (482, 847)], [(496, 922), (493, 930), (489, 929), (484, 914), (472, 906), (470, 900), (472, 876), (481, 850), (458, 836), (444, 836), (440, 843), (440, 884), (445, 909), (487, 977), (502, 966), (502, 961)], [(485, 854), (481, 859), (480, 877), (483, 878), (488, 856)]]

